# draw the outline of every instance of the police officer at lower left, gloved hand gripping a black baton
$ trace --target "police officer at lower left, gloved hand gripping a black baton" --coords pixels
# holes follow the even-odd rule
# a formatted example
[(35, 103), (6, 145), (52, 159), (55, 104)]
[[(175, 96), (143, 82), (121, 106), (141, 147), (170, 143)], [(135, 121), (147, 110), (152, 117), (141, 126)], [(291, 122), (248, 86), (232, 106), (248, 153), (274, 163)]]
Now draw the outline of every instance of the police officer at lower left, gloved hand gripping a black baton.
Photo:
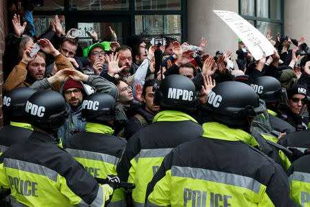
[(12, 206), (104, 206), (119, 179), (111, 177), (99, 186), (81, 164), (55, 146), (56, 128), (68, 117), (65, 99), (58, 92), (39, 90), (28, 99), (25, 115), (34, 132), (0, 157), (0, 186), (10, 188)]

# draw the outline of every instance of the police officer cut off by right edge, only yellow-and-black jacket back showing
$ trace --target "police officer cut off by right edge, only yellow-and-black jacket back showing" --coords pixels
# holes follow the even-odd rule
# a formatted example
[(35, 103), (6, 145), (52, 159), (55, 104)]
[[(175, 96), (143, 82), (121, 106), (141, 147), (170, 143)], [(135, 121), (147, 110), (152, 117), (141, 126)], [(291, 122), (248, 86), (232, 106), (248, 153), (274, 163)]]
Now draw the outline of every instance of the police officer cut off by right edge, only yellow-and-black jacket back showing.
[[(308, 137), (309, 138), (309, 137)], [(310, 155), (304, 155), (287, 170), (291, 186), (291, 198), (298, 206), (310, 206)]]

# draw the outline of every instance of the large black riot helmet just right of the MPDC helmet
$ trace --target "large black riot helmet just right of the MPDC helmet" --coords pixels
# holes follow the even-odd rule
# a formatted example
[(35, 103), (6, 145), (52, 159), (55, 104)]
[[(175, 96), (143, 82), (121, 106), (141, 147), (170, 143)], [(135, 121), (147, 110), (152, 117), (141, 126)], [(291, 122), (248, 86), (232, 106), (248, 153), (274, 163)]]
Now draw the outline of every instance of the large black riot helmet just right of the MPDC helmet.
[(249, 129), (251, 118), (264, 112), (256, 92), (245, 83), (225, 81), (209, 93), (205, 109), (211, 117), (232, 128)]

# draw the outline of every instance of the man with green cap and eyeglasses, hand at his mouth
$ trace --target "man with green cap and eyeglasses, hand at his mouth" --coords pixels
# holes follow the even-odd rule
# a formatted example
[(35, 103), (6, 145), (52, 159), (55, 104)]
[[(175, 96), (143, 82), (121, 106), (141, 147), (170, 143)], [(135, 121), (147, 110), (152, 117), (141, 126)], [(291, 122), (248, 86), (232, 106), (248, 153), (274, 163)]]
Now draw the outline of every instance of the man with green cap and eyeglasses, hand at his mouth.
[(87, 61), (89, 66), (83, 68), (83, 73), (86, 75), (100, 75), (105, 65), (105, 46), (102, 43), (95, 43), (90, 46), (87, 53)]

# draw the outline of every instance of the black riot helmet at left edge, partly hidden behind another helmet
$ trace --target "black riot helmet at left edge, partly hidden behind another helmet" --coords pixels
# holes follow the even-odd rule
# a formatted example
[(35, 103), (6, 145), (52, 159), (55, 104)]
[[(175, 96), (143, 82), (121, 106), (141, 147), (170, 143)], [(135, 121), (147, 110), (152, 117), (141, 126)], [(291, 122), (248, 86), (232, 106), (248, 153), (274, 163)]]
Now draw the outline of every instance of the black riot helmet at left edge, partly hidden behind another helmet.
[(36, 90), (32, 88), (14, 88), (3, 95), (3, 112), (10, 119), (25, 119), (25, 104)]

